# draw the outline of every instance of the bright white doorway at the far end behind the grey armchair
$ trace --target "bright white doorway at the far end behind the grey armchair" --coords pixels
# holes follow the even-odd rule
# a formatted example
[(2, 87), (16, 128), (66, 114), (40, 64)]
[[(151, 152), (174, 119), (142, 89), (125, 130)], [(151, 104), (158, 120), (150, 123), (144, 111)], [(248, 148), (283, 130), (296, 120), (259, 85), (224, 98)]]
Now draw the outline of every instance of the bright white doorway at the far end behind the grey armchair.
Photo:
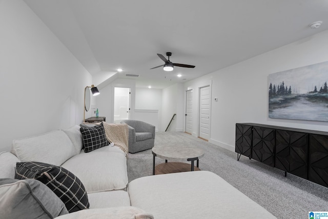
[(130, 118), (130, 88), (114, 88), (114, 123)]

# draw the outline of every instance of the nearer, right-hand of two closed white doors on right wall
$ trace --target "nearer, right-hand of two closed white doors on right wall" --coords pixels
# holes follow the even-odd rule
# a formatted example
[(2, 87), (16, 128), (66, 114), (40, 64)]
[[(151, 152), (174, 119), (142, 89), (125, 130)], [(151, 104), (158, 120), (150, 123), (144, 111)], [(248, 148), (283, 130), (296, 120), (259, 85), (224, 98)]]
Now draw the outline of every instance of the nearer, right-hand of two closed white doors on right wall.
[(210, 138), (210, 86), (199, 90), (199, 137)]

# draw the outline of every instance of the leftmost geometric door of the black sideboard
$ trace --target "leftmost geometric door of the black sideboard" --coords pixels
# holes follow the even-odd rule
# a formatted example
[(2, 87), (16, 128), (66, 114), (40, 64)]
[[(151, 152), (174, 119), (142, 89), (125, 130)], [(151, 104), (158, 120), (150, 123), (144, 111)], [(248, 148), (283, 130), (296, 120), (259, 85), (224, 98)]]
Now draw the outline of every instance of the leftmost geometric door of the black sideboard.
[(252, 158), (252, 126), (236, 124), (235, 151)]

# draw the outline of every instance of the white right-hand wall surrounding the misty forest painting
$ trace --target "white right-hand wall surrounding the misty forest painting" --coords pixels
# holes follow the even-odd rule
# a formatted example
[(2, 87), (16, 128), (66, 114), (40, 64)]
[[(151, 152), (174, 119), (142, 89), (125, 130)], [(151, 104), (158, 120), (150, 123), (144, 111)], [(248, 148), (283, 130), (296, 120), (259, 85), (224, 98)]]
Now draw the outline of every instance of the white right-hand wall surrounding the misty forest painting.
[[(328, 131), (327, 122), (269, 118), (267, 82), (271, 73), (328, 61), (327, 39), (328, 31), (324, 31), (185, 83), (187, 90), (212, 81), (210, 142), (234, 151), (236, 123)], [(195, 92), (195, 95), (198, 94)], [(215, 97), (218, 97), (217, 102)], [(197, 115), (196, 101), (193, 108)], [(193, 132), (197, 133), (197, 125), (193, 127)]]

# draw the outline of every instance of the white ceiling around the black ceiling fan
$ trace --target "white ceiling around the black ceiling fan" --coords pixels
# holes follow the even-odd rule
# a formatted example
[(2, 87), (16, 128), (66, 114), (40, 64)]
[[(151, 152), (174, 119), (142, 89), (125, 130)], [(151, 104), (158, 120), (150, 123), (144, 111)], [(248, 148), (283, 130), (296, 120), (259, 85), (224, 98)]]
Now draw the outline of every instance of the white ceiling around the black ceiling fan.
[[(137, 87), (186, 82), (328, 29), (327, 0), (24, 1), (94, 77), (122, 68), (119, 77), (140, 75)], [(166, 52), (196, 67), (150, 70)]]

